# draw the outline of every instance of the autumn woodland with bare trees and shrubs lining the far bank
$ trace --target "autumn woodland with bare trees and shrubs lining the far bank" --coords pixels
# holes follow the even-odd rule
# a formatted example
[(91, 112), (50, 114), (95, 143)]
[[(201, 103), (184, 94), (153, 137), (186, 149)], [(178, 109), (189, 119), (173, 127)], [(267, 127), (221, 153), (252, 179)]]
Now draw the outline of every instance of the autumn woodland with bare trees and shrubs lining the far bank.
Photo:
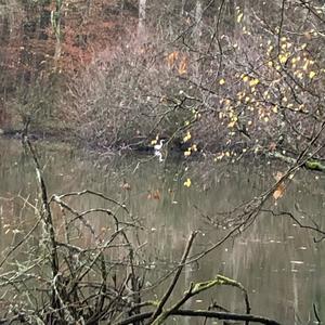
[(323, 1), (0, 8), (2, 132), (28, 121), (35, 133), (98, 148), (165, 136), (185, 156), (199, 147), (216, 159), (290, 159), (324, 126)]

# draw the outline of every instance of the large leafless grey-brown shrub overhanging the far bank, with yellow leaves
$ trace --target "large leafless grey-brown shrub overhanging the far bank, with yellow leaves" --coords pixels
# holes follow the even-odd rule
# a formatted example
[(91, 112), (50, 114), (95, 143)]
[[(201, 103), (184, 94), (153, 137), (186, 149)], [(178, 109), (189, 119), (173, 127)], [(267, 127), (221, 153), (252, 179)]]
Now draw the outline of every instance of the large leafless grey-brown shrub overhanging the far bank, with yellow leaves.
[[(165, 9), (177, 17), (178, 8)], [(323, 121), (323, 21), (314, 10), (291, 1), (207, 6), (199, 30), (190, 11), (170, 34), (152, 21), (146, 43), (130, 36), (72, 82), (67, 116), (82, 140), (104, 146), (191, 130), (212, 152), (297, 153)]]

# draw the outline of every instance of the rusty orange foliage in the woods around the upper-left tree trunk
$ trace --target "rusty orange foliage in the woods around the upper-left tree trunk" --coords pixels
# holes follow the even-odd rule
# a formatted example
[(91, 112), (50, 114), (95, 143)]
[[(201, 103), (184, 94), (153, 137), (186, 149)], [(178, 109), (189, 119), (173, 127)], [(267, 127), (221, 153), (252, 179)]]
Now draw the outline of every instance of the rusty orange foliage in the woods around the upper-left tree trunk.
[[(109, 2), (91, 1), (88, 11), (84, 10), (83, 1), (62, 6), (62, 55), (58, 67), (63, 73), (79, 72), (104, 49), (114, 51), (116, 40), (136, 23), (131, 17), (126, 24), (121, 15), (112, 14), (110, 6), (114, 8), (114, 3)], [(30, 12), (18, 10), (21, 15), (15, 17), (15, 25), (10, 26), (12, 31), (5, 42), (0, 43), (2, 70), (12, 76), (8, 80), (14, 80), (15, 75), (25, 75), (25, 72), (31, 72), (35, 77), (41, 72), (50, 74), (54, 64), (56, 38), (50, 20), (42, 28), (28, 26), (34, 26), (34, 22), (39, 21), (39, 16), (46, 12), (50, 14), (55, 11), (55, 1), (47, 6), (32, 8)]]

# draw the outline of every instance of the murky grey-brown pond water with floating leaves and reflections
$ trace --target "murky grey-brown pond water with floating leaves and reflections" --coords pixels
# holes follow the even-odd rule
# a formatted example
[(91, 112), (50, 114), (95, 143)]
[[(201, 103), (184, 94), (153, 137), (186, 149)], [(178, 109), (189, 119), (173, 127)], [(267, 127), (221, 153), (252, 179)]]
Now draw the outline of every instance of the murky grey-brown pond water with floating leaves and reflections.
[[(161, 162), (148, 155), (94, 158), (65, 145), (40, 146), (50, 194), (89, 188), (125, 202), (131, 213), (141, 219), (143, 230), (139, 240), (145, 243), (144, 258), (148, 263), (155, 260), (152, 268), (160, 275), (180, 261), (192, 230), (199, 231), (194, 252), (210, 247), (222, 238), (224, 231), (209, 220), (259, 195), (275, 182), (275, 172), (285, 171), (284, 166), (273, 161), (257, 168), (253, 165), (258, 161), (190, 162), (168, 157)], [(1, 140), (0, 147), (0, 250), (3, 255), (32, 224), (22, 198), (35, 202), (37, 184), (30, 158), (20, 142)], [(190, 187), (184, 185), (187, 179), (191, 179)], [(78, 200), (76, 208), (84, 210), (95, 206), (99, 199), (87, 196)], [(276, 203), (270, 200), (268, 208), (289, 211), (306, 224), (312, 224), (313, 220), (324, 229), (324, 174), (299, 171), (284, 197)], [(107, 225), (105, 218), (90, 222), (98, 230)], [(20, 232), (16, 232), (17, 224)], [(211, 280), (220, 273), (244, 285), (253, 314), (283, 324), (313, 324), (314, 303), (321, 320), (325, 320), (325, 249), (324, 242), (314, 243), (314, 237), (318, 238), (317, 234), (300, 229), (288, 217), (261, 213), (243, 234), (226, 240), (198, 263), (185, 266), (176, 297), (191, 282)], [(153, 282), (154, 277), (148, 275), (147, 283)], [(161, 297), (166, 285), (152, 294)], [(240, 292), (226, 287), (195, 297), (186, 308), (204, 309), (211, 301), (234, 312), (245, 311)], [(168, 324), (203, 324), (203, 321), (171, 318)]]

